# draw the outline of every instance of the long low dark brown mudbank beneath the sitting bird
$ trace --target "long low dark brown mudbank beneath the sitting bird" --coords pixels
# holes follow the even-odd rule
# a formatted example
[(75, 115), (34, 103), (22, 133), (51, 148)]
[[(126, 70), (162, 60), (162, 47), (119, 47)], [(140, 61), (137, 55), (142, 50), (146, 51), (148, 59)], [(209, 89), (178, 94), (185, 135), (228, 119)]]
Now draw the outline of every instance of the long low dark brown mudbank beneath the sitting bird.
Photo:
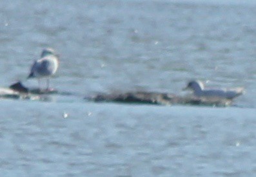
[(229, 106), (229, 100), (206, 100), (197, 97), (181, 97), (172, 93), (155, 92), (130, 92), (121, 94), (97, 94), (95, 97), (86, 98), (95, 102), (124, 102), (137, 104), (192, 104), (207, 106)]

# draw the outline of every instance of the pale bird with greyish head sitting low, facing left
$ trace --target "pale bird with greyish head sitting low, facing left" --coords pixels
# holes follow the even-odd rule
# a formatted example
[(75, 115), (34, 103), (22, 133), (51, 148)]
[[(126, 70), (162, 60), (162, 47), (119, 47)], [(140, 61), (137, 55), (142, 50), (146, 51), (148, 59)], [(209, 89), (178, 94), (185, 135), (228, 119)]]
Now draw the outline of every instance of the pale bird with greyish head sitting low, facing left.
[[(219, 88), (219, 89), (208, 89), (204, 88), (204, 84), (200, 80), (193, 80), (188, 82), (188, 85), (184, 89), (192, 89), (193, 94), (196, 97), (204, 97), (204, 98), (222, 98), (232, 100), (239, 95), (244, 93), (244, 88)], [(184, 90), (183, 89), (183, 90)]]

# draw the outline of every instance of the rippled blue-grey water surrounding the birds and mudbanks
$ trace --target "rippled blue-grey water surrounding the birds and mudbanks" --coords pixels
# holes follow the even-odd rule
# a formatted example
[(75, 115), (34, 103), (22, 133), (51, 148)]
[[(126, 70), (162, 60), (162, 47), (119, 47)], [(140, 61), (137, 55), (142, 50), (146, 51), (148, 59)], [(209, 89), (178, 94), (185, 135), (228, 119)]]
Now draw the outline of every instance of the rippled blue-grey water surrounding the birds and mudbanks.
[[(24, 79), (50, 46), (61, 54), (50, 84), (74, 94), (0, 100), (0, 175), (252, 176), (255, 9), (251, 1), (1, 1), (0, 86)], [(246, 94), (231, 107), (83, 99), (182, 95), (190, 79)]]

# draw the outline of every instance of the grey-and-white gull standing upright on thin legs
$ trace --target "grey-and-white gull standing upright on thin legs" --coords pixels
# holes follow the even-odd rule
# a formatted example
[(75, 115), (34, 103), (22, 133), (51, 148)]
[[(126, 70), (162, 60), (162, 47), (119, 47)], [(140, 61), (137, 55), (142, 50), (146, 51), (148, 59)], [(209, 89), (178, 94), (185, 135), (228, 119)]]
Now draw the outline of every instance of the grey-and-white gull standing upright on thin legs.
[(37, 78), (40, 87), (40, 79), (45, 78), (47, 82), (46, 90), (49, 91), (49, 80), (52, 77), (59, 66), (58, 55), (52, 48), (46, 48), (42, 51), (41, 59), (34, 62), (31, 67), (30, 74), (28, 75), (28, 79)]

